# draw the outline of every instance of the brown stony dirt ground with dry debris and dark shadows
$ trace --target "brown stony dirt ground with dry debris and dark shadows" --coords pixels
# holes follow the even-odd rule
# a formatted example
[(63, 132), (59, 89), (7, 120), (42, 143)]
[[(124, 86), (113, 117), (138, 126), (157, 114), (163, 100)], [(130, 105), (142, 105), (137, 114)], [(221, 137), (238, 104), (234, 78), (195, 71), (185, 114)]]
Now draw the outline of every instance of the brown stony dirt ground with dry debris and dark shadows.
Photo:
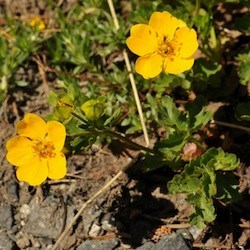
[[(4, 11), (21, 16), (32, 10), (33, 14), (46, 16), (45, 2), (0, 1), (1, 22)], [(67, 1), (64, 8), (69, 6)], [(216, 221), (200, 230), (188, 224), (192, 207), (185, 202), (185, 196), (167, 193), (171, 173), (160, 169), (150, 175), (141, 174), (136, 170), (143, 164), (142, 156), (119, 142), (95, 144), (81, 155), (68, 156), (66, 178), (49, 180), (42, 190), (18, 182), (15, 168), (5, 159), (5, 143), (15, 134), (14, 126), (25, 113), (44, 116), (50, 112), (47, 94), (54, 88), (56, 76), (48, 73), (45, 84), (36, 62), (31, 60), (17, 70), (15, 77), (29, 85), (10, 85), (0, 107), (0, 249), (51, 249), (82, 204), (132, 161), (110, 189), (86, 207), (59, 249), (250, 249), (247, 133), (222, 129), (218, 135), (227, 135), (226, 139), (213, 138), (210, 142), (230, 145), (230, 150), (241, 158), (235, 174), (242, 200), (228, 206), (216, 204)], [(216, 107), (218, 103), (211, 105)], [(157, 245), (168, 237), (181, 242), (180, 248)]]

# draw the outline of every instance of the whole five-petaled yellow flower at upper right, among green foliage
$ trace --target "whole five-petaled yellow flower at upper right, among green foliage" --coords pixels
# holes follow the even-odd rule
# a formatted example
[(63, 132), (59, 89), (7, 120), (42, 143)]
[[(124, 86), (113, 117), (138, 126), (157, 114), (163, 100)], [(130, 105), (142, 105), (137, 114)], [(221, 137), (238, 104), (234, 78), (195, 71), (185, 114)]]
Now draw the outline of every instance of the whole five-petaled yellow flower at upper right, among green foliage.
[(145, 79), (191, 69), (198, 48), (195, 30), (167, 11), (154, 12), (148, 24), (132, 26), (126, 43), (139, 56), (135, 70)]

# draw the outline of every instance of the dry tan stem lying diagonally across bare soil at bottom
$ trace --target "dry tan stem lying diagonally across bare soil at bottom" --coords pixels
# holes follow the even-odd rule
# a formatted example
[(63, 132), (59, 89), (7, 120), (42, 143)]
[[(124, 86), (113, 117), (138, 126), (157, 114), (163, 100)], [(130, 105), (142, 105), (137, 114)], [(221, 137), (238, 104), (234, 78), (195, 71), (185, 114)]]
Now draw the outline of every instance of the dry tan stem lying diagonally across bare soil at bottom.
[(99, 195), (101, 195), (103, 192), (105, 192), (121, 175), (123, 171), (119, 171), (104, 187), (102, 187), (97, 193), (95, 193), (93, 196), (91, 196), (90, 199), (88, 199), (85, 203), (83, 203), (82, 207), (79, 209), (77, 214), (74, 216), (74, 218), (66, 225), (64, 231), (60, 235), (60, 237), (57, 239), (56, 243), (52, 247), (52, 250), (56, 250), (57, 247), (59, 247), (60, 243), (63, 241), (69, 230), (73, 227), (77, 219), (81, 216), (83, 210), (91, 203), (93, 202)]

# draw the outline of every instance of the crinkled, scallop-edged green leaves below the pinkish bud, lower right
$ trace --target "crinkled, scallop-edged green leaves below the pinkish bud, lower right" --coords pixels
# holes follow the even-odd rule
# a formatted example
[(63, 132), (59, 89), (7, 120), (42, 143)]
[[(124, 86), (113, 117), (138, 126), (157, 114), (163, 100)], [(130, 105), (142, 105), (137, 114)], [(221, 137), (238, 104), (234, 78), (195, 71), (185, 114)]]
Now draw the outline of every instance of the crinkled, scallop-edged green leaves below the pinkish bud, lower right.
[(237, 168), (239, 160), (234, 154), (225, 153), (221, 148), (210, 148), (202, 156), (186, 164), (181, 174), (168, 183), (170, 193), (186, 193), (187, 202), (193, 205), (192, 224), (204, 228), (216, 217), (213, 199), (227, 202), (237, 197), (234, 178), (221, 174)]

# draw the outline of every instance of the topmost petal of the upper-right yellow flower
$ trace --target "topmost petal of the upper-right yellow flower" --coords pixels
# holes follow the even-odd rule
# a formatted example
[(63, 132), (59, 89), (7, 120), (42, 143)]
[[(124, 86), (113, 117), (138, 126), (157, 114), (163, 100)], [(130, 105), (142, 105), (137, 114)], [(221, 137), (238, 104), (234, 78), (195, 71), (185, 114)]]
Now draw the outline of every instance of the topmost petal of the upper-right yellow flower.
[[(179, 27), (185, 27), (186, 24), (176, 17), (172, 16), (169, 12), (154, 12), (149, 20), (151, 26), (159, 35), (165, 35), (168, 40), (171, 40), (175, 31)], [(145, 40), (147, 42), (147, 40)], [(144, 44), (143, 44), (144, 46)]]

